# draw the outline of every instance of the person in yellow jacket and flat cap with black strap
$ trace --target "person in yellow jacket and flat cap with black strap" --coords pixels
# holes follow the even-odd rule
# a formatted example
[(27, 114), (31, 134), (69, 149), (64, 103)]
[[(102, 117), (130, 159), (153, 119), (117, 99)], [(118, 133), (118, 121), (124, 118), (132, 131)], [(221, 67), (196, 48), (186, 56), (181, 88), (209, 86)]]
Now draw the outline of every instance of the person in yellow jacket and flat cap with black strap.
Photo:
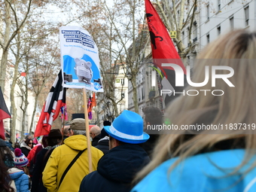
[[(73, 135), (65, 139), (63, 145), (53, 150), (44, 168), (42, 180), (48, 192), (77, 192), (82, 179), (85, 175), (89, 174), (84, 119), (77, 118), (72, 120), (70, 122), (70, 129)], [(78, 157), (62, 179), (62, 182), (60, 182), (66, 168), (78, 152), (83, 150), (85, 151)], [(103, 153), (99, 149), (91, 147), (91, 154), (93, 171), (95, 171)]]

